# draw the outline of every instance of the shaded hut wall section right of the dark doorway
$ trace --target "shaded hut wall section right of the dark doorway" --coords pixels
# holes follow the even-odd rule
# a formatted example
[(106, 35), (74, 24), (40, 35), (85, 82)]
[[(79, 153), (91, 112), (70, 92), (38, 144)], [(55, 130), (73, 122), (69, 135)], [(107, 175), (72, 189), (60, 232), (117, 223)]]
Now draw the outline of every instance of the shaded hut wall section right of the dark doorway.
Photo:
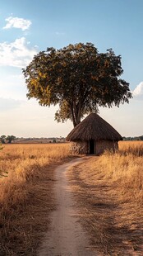
[(96, 141), (96, 154), (104, 153), (105, 149), (118, 150), (118, 141), (99, 140)]

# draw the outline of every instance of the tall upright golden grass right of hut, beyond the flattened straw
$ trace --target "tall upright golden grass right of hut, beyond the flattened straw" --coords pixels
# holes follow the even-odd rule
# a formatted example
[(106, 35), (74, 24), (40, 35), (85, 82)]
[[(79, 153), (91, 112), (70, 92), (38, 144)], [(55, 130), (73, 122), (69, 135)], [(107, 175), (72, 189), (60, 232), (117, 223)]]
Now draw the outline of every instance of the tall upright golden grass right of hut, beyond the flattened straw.
[(143, 204), (143, 142), (120, 142), (119, 151), (106, 151), (98, 165), (104, 170), (104, 179), (116, 184), (124, 200)]

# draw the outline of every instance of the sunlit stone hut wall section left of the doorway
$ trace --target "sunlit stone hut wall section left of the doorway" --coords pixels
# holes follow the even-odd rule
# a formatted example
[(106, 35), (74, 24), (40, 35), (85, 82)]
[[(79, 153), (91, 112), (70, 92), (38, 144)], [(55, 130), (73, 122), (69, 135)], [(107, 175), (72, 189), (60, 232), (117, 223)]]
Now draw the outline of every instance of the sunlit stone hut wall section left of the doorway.
[(70, 153), (71, 154), (87, 154), (88, 144), (86, 141), (72, 142)]

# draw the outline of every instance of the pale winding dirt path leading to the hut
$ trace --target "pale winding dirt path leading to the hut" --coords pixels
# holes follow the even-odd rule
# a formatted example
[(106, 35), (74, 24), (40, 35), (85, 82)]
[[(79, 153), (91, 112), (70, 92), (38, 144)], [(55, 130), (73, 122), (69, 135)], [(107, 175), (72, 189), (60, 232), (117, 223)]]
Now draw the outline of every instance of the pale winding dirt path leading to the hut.
[[(83, 159), (72, 160), (56, 168), (55, 197), (57, 210), (51, 214), (51, 227), (39, 248), (38, 256), (92, 256), (97, 255), (90, 248), (89, 237), (83, 230), (76, 204), (72, 199), (71, 189), (67, 180), (67, 170)], [(99, 255), (99, 254), (98, 254)]]

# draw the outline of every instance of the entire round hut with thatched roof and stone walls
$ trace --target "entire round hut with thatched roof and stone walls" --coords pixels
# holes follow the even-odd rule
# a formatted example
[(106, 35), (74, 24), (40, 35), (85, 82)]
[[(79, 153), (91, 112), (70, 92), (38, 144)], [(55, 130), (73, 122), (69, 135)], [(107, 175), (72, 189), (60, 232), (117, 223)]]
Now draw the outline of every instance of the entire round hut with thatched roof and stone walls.
[(67, 135), (67, 141), (72, 141), (72, 154), (99, 155), (105, 149), (115, 151), (118, 149), (118, 140), (122, 140), (118, 131), (95, 113), (87, 116)]

